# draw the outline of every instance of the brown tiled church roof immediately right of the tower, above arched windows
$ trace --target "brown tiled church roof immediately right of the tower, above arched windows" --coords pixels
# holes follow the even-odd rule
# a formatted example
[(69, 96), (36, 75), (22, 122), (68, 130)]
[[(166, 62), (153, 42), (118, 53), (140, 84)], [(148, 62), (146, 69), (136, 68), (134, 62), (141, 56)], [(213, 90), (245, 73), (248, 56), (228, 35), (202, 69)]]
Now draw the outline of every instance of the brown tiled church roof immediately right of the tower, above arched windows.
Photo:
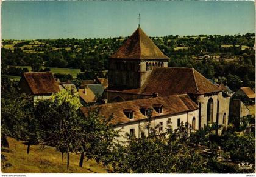
[(219, 87), (194, 68), (154, 68), (139, 93), (168, 96), (185, 93), (201, 95), (220, 91)]

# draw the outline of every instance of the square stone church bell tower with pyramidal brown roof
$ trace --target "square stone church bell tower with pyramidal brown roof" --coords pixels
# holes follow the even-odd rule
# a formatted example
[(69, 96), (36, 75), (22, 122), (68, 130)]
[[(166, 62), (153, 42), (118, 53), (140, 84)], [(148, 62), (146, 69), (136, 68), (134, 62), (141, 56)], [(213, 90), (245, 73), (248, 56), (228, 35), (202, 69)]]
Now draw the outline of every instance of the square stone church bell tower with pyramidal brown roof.
[(139, 27), (109, 58), (110, 85), (140, 88), (155, 67), (168, 67), (168, 56)]

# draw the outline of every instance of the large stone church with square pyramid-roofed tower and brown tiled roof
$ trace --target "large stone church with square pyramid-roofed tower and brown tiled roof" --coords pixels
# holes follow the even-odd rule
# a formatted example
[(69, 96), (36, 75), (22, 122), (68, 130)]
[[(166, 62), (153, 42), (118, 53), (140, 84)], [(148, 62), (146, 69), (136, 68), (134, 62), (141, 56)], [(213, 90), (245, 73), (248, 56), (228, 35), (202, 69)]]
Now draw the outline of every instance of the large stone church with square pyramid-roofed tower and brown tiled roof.
[(216, 122), (227, 126), (229, 96), (194, 68), (168, 67), (168, 57), (137, 28), (130, 38), (110, 56), (109, 87), (103, 99), (120, 102), (187, 94), (199, 107), (197, 127)]

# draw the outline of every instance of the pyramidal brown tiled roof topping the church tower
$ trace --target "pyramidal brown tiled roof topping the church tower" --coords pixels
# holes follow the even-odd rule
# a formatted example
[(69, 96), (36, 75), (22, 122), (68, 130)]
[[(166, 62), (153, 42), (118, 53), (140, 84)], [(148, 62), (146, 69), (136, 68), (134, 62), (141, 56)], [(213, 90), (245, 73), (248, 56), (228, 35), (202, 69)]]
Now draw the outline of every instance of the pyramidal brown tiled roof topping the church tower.
[(169, 59), (138, 27), (110, 58), (114, 59)]

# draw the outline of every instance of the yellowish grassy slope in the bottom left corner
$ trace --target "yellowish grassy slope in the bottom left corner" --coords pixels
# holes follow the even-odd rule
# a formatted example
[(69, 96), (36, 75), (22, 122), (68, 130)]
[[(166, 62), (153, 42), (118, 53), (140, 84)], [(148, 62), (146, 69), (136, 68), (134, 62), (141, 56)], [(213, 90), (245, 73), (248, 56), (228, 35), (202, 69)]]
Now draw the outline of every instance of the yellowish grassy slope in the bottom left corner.
[(27, 155), (27, 146), (21, 141), (13, 138), (8, 138), (8, 140), (10, 152), (2, 149), (2, 154), (7, 156), (7, 162), (12, 164), (12, 167), (2, 169), (4, 173), (107, 173), (104, 167), (91, 160), (85, 159), (84, 167), (79, 167), (79, 155), (73, 153), (70, 156), (69, 170), (67, 170), (66, 154), (62, 162), (61, 153), (53, 147), (42, 149), (38, 145), (32, 145)]

